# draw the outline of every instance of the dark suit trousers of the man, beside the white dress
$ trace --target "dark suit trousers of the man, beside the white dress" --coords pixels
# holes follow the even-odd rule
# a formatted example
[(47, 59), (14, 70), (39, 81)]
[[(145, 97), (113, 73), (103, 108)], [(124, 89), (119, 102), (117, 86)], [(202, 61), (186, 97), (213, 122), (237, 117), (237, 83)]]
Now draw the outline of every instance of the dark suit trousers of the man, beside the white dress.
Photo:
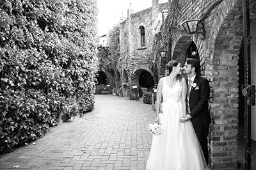
[(209, 125), (203, 125), (203, 126), (194, 126), (196, 135), (198, 137), (199, 143), (201, 145), (201, 148), (204, 153), (204, 158), (206, 161), (206, 164), (208, 165), (209, 162), (209, 153), (208, 153), (208, 142), (207, 142), (207, 135), (209, 133)]

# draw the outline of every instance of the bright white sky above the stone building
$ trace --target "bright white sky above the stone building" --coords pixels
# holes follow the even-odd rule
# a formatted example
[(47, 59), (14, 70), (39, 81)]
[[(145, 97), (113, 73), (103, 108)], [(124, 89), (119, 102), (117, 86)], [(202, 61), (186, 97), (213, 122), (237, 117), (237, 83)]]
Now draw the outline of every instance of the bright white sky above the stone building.
[(152, 0), (98, 0), (98, 31), (99, 36), (106, 35), (108, 30), (118, 24), (122, 13), (127, 18), (130, 3), (134, 12), (145, 10), (152, 6)]

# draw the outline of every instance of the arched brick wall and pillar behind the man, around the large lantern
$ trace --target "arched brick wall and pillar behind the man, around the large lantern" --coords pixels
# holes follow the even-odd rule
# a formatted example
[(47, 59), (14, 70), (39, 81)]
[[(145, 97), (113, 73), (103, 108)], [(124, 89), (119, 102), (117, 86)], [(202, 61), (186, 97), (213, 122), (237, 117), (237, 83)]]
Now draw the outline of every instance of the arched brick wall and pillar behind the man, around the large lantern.
[[(250, 1), (255, 4), (255, 1)], [(241, 1), (172, 1), (161, 27), (163, 45), (170, 57), (184, 61), (186, 48), (193, 41), (200, 55), (202, 75), (211, 86), (210, 111), (213, 123), (209, 135), (210, 167), (237, 168), (239, 102), (239, 52), (243, 40)], [(256, 8), (255, 6), (252, 8)], [(208, 15), (206, 15), (208, 13)], [(253, 13), (252, 13), (253, 14)], [(204, 17), (206, 37), (190, 36), (178, 29), (183, 20)]]

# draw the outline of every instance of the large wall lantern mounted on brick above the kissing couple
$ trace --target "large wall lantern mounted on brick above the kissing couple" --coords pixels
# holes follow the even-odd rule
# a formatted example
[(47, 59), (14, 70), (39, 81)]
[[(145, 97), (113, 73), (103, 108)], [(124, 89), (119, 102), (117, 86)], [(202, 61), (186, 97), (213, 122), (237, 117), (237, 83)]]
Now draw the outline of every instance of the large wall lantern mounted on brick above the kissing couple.
[(204, 22), (201, 19), (184, 20), (180, 23), (184, 27), (185, 31), (191, 34), (201, 34), (201, 40), (205, 38)]

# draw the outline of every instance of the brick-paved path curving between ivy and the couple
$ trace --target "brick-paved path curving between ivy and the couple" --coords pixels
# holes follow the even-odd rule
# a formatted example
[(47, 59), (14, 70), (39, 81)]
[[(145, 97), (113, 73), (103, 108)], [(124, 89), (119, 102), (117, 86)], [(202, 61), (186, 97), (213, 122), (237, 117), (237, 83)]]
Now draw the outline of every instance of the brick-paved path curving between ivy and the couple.
[(0, 155), (0, 169), (145, 169), (154, 116), (141, 100), (95, 95), (92, 112)]

